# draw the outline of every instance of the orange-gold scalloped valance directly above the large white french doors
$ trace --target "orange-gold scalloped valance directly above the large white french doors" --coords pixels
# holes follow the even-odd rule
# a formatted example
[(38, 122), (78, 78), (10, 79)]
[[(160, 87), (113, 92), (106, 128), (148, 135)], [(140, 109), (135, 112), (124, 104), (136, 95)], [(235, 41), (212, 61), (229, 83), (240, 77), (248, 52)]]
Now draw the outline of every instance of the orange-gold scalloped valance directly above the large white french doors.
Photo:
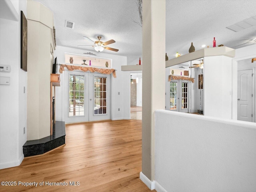
[(60, 73), (64, 70), (64, 67), (66, 67), (69, 71), (73, 70), (81, 70), (81, 71), (90, 71), (90, 72), (97, 72), (97, 73), (103, 73), (106, 75), (109, 75), (113, 73), (113, 77), (116, 77), (116, 69), (102, 69), (102, 68), (97, 68), (97, 67), (82, 67), (82, 66), (76, 66), (76, 65), (65, 65), (61, 64), (60, 65)]

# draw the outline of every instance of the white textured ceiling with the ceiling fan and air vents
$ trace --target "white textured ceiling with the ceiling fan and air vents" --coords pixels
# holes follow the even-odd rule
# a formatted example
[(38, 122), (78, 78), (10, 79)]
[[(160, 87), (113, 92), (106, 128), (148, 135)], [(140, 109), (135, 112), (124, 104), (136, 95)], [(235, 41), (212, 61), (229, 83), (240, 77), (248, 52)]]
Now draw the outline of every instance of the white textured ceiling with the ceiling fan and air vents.
[[(57, 46), (78, 48), (91, 45), (86, 36), (102, 41), (114, 39), (108, 45), (118, 52), (106, 53), (127, 56), (128, 64), (138, 64), (142, 57), (142, 28), (136, 0), (36, 0), (54, 12)], [(256, 0), (166, 0), (166, 53), (169, 59), (176, 51), (188, 53), (191, 42), (196, 50), (202, 45), (223, 44), (241, 48), (256, 44), (256, 26), (234, 32), (227, 26), (256, 16)], [(74, 22), (74, 29), (65, 28), (65, 20)], [(85, 48), (94, 51), (94, 48)], [(163, 57), (165, 55), (163, 54)]]

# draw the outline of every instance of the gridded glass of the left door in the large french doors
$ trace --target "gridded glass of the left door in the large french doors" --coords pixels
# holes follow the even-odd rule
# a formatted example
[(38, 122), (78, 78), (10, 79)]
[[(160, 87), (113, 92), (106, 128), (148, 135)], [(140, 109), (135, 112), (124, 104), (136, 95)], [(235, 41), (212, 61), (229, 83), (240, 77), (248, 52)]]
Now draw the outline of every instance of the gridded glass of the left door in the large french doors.
[(69, 75), (68, 116), (84, 116), (84, 75)]

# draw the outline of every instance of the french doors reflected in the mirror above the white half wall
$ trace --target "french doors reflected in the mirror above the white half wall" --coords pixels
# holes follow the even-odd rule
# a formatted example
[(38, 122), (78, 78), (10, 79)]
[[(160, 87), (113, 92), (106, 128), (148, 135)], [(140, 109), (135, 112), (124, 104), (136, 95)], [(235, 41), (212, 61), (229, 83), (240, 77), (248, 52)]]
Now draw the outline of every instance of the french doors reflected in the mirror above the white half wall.
[(170, 81), (170, 111), (188, 113), (189, 83), (184, 80)]

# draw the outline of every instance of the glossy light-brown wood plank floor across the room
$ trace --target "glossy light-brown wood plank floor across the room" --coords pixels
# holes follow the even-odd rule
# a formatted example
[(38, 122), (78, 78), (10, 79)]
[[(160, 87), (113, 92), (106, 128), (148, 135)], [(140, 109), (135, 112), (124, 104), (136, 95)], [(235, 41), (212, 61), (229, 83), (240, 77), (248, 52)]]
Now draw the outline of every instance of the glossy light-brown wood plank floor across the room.
[[(139, 178), (141, 137), (139, 120), (66, 125), (66, 145), (0, 170), (1, 182), (17, 182), (16, 186), (0, 186), (0, 191), (151, 192)], [(38, 182), (38, 186), (18, 182)], [(51, 183), (67, 186), (49, 186)]]

